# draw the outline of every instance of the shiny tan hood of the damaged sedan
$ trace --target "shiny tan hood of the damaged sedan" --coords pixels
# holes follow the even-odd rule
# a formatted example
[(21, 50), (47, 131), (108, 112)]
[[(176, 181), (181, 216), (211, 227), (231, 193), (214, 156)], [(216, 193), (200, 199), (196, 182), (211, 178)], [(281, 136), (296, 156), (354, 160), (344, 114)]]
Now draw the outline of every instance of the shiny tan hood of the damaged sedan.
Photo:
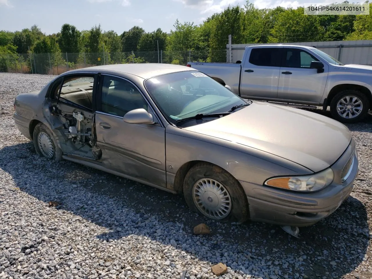
[(184, 129), (256, 148), (314, 172), (333, 164), (351, 141), (349, 129), (331, 118), (262, 102)]

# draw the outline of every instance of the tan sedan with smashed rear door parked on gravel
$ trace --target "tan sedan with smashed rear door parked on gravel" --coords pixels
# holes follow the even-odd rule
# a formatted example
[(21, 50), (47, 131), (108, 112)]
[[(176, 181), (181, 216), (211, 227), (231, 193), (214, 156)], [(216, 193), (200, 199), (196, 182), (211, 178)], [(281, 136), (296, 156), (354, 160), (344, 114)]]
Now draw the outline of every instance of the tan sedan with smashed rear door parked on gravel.
[(343, 124), (242, 99), (179, 65), (69, 71), (19, 94), (14, 119), (40, 156), (182, 193), (220, 221), (312, 225), (349, 196), (358, 170)]

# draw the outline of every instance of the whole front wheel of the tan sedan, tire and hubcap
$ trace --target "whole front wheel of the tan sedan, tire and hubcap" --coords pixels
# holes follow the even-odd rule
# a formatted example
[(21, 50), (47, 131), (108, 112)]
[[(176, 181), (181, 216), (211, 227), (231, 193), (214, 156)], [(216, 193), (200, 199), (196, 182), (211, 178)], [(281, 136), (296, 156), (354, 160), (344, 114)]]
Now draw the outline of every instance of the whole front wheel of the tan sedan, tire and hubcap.
[(248, 201), (239, 182), (210, 163), (198, 163), (186, 174), (183, 194), (190, 209), (221, 222), (248, 219)]

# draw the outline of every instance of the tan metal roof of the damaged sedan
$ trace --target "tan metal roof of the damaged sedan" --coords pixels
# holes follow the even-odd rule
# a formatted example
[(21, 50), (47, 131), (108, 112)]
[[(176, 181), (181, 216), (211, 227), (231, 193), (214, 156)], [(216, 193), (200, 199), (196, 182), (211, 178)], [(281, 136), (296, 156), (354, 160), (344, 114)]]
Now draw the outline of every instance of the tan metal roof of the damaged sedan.
[(180, 71), (197, 71), (193, 68), (173, 65), (173, 64), (161, 64), (161, 63), (135, 63), (135, 64), (112, 64), (112, 65), (100, 65), (87, 68), (81, 68), (70, 72), (82, 72), (82, 71), (118, 71), (122, 73), (132, 74), (141, 78), (156, 77), (163, 74), (176, 73)]

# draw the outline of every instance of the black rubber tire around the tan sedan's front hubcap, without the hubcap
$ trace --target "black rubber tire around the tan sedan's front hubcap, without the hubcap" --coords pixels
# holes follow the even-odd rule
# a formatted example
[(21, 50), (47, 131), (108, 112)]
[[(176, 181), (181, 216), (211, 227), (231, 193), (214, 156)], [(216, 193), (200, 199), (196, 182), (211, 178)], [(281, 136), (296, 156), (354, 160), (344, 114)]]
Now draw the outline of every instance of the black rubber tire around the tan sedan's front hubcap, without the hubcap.
[(216, 221), (242, 223), (249, 219), (247, 196), (240, 183), (230, 173), (210, 163), (196, 164), (187, 172), (185, 180), (183, 181), (183, 195), (185, 196), (187, 205), (192, 211), (211, 218), (199, 210), (193, 199), (193, 187), (198, 180), (203, 178), (217, 180), (217, 182), (225, 187), (225, 190), (231, 198), (230, 213), (223, 219), (216, 219)]

